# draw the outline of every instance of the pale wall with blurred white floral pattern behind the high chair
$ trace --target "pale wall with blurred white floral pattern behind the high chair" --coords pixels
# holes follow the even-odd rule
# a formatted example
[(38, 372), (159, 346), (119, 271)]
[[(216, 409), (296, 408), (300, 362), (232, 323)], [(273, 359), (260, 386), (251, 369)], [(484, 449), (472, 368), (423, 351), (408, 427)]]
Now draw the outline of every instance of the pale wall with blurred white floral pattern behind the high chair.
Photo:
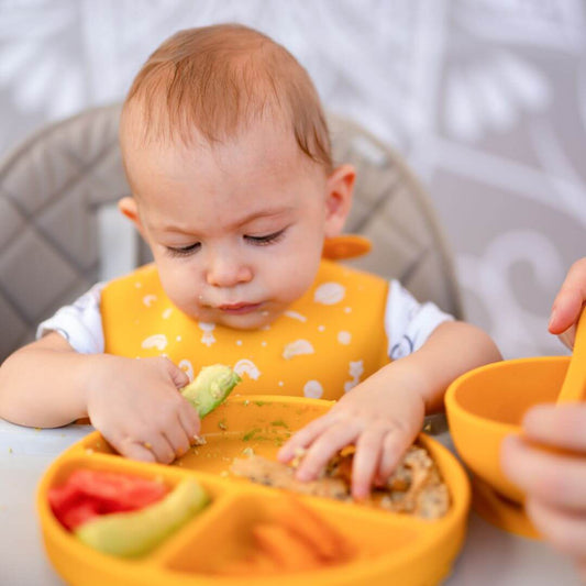
[(0, 0), (0, 156), (122, 99), (176, 30), (225, 21), (287, 46), (327, 108), (407, 157), (506, 357), (564, 353), (546, 321), (586, 255), (584, 0)]

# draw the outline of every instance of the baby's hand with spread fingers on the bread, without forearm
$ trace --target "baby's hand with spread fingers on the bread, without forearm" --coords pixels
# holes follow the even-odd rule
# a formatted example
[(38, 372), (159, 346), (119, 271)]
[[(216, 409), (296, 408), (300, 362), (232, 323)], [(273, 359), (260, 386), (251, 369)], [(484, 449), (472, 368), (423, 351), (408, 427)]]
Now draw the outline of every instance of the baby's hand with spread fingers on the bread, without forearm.
[(352, 496), (366, 498), (373, 484), (386, 482), (421, 431), (424, 417), (416, 385), (394, 376), (392, 366), (354, 387), (281, 447), (281, 462), (289, 462), (300, 447), (307, 450), (296, 473), (299, 480), (314, 479), (336, 452), (354, 444)]

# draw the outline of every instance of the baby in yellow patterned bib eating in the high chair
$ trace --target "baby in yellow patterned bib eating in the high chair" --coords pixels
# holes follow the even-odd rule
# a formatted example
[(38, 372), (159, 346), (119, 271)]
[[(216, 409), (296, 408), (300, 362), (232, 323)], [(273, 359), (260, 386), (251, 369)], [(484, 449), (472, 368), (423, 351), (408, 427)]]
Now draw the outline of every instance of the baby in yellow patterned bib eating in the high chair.
[(446, 386), (500, 360), (483, 331), (397, 281), (322, 258), (355, 172), (332, 164), (307, 71), (265, 35), (217, 25), (172, 36), (130, 89), (120, 142), (133, 194), (120, 209), (154, 264), (41, 324), (0, 368), (1, 417), (89, 417), (121, 454), (169, 463), (200, 424), (177, 389), (222, 362), (243, 394), (339, 399), (279, 458), (307, 449), (298, 478), (311, 479), (355, 444), (352, 490), (364, 498)]

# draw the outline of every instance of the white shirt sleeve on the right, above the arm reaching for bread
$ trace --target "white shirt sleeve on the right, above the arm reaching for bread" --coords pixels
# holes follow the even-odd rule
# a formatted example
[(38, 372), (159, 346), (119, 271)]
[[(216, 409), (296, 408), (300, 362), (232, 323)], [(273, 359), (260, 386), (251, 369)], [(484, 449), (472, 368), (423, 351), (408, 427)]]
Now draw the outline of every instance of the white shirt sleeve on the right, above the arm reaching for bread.
[(453, 320), (436, 305), (429, 301), (420, 303), (398, 280), (391, 280), (385, 310), (390, 360), (396, 361), (416, 352), (440, 323)]

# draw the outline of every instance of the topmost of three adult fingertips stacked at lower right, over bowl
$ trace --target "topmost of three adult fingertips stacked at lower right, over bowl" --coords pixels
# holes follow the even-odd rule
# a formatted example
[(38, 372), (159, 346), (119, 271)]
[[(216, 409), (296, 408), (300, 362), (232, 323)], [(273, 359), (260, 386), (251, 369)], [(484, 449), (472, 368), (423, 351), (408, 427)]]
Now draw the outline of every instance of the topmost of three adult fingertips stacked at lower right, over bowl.
[(526, 435), (534, 442), (586, 456), (586, 405), (538, 405), (523, 418)]

